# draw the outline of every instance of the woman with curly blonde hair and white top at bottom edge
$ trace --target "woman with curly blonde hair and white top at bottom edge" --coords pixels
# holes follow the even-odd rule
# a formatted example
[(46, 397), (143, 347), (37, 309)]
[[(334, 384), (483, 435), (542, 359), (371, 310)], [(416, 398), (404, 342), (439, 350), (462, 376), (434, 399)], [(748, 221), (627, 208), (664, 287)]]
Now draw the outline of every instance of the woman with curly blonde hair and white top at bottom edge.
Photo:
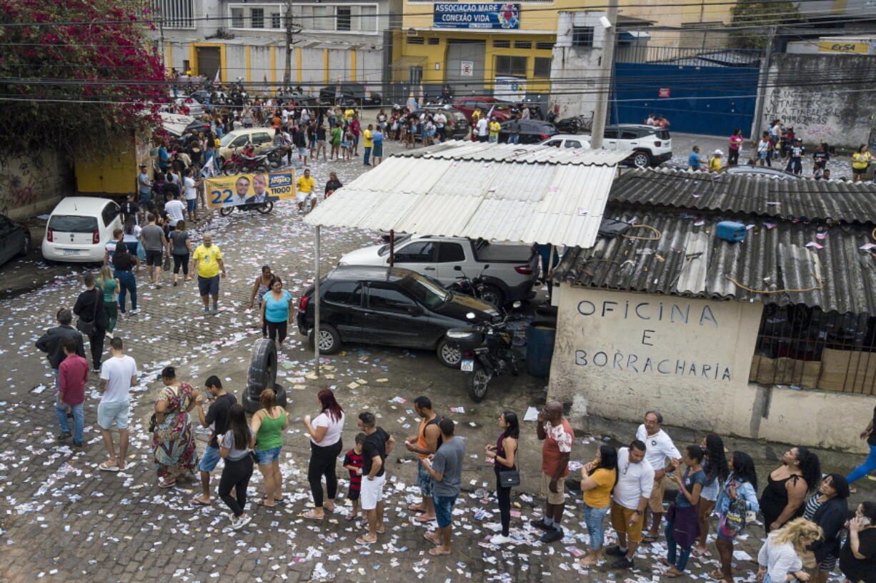
[(821, 527), (805, 518), (795, 518), (771, 532), (758, 553), (757, 580), (762, 583), (808, 581), (809, 573), (803, 571), (801, 557), (807, 545), (822, 536)]

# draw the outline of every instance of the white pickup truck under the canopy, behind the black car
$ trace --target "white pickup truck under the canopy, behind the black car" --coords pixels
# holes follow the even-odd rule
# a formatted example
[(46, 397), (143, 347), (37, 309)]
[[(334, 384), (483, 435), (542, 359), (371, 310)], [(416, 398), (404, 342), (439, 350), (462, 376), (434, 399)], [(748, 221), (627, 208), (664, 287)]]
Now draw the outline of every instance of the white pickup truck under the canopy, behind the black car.
[[(389, 265), (389, 244), (351, 251), (338, 265)], [(533, 297), (539, 255), (528, 245), (491, 244), (483, 239), (405, 235), (395, 242), (395, 265), (447, 286), (459, 276), (484, 277), (484, 299), (503, 306)]]

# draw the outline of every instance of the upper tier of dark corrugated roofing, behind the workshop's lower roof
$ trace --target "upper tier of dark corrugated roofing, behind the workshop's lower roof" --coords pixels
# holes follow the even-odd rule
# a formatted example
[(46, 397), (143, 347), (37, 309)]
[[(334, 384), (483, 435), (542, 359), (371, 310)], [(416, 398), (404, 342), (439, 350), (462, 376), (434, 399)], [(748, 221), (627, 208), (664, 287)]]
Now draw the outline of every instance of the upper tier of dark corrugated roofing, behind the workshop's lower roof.
[(871, 182), (637, 169), (615, 180), (611, 201), (781, 219), (876, 223), (876, 186)]

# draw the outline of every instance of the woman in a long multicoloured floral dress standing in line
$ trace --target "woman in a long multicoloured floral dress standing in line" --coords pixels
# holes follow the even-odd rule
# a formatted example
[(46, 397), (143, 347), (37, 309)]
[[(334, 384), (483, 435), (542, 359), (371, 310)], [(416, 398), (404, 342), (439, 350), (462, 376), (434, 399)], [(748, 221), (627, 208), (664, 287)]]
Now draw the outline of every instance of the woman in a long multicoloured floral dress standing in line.
[(155, 432), (152, 433), (152, 451), (155, 470), (159, 474), (159, 488), (170, 488), (177, 480), (191, 480), (198, 465), (194, 448), (194, 434), (188, 412), (197, 403), (197, 394), (191, 385), (176, 379), (173, 367), (161, 371), (165, 384), (155, 402)]

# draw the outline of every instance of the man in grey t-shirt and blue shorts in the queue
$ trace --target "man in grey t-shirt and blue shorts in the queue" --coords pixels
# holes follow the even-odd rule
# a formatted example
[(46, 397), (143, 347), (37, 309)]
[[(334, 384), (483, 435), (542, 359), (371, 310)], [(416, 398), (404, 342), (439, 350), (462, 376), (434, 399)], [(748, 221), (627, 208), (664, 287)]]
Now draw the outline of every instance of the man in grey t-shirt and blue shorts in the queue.
[(437, 544), (429, 549), (429, 554), (433, 556), (449, 555), (451, 552), (453, 505), (463, 482), (465, 442), (462, 438), (454, 437), (454, 425), (453, 419), (446, 417), (438, 422), (442, 444), (437, 452), (422, 460), (423, 467), (432, 476), (432, 502), (438, 523), (437, 532), (430, 530), (424, 535), (427, 540)]

